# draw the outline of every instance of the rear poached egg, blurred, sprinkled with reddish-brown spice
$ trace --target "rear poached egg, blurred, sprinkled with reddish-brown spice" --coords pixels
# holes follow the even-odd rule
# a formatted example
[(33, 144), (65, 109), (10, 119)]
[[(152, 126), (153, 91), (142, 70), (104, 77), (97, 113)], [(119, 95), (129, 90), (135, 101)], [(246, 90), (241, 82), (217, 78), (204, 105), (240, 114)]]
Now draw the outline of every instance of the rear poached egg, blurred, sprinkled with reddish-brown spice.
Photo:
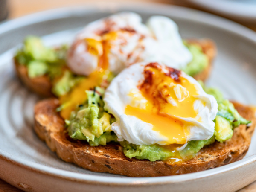
[(89, 23), (76, 36), (67, 57), (70, 69), (85, 76), (101, 69), (117, 75), (141, 61), (159, 61), (181, 69), (191, 60), (173, 20), (152, 16), (143, 24), (140, 15), (133, 12)]

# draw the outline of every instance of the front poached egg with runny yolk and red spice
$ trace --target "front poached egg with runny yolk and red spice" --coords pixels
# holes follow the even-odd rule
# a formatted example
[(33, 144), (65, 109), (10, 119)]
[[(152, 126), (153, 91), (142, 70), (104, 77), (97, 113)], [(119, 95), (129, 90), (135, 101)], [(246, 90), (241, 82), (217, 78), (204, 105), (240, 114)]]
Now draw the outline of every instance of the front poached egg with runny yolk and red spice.
[(164, 64), (141, 62), (124, 69), (103, 100), (116, 118), (111, 130), (119, 141), (185, 146), (214, 134), (215, 98), (191, 76)]

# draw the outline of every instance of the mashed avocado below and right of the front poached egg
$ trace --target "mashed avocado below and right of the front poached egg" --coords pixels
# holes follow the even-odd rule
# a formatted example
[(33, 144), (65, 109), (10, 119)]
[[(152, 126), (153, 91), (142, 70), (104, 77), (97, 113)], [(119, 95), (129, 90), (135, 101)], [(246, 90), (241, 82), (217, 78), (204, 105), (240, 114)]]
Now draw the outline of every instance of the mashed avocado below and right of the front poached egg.
[[(205, 92), (213, 95), (218, 102), (218, 113), (214, 120), (215, 131), (214, 135), (209, 140), (189, 141), (188, 145), (178, 152), (178, 156), (185, 160), (195, 157), (201, 148), (214, 143), (215, 140), (224, 142), (230, 139), (233, 136), (233, 128), (240, 124), (248, 124), (250, 122), (239, 115), (231, 102), (224, 100), (223, 95), (218, 89), (204, 87), (202, 82), (200, 82), (200, 84)], [(135, 157), (137, 159), (156, 161), (177, 157), (177, 154), (160, 145), (134, 145), (127, 141), (120, 142), (120, 144), (123, 147), (125, 156), (128, 158)]]

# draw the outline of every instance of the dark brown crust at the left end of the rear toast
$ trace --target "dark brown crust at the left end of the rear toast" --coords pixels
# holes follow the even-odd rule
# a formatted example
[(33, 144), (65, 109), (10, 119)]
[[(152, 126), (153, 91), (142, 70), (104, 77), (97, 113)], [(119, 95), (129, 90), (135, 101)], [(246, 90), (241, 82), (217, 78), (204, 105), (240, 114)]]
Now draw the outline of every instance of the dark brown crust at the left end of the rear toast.
[(47, 76), (40, 76), (36, 78), (29, 78), (28, 69), (25, 65), (19, 64), (15, 59), (15, 70), (20, 81), (29, 88), (29, 90), (42, 97), (51, 97), (52, 83)]

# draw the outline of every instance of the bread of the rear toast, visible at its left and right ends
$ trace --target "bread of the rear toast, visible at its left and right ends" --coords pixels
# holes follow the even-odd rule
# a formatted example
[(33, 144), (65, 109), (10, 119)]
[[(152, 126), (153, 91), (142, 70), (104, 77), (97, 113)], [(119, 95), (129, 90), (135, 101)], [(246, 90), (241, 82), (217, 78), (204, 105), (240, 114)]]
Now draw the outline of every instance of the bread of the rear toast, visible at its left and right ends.
[[(212, 60), (216, 55), (216, 47), (213, 41), (209, 39), (202, 39), (202, 40), (188, 40), (189, 42), (196, 43), (200, 45), (203, 49), (203, 52), (208, 56), (209, 58), (209, 64), (207, 68), (205, 68), (201, 73), (198, 73), (194, 76), (196, 80), (202, 80), (205, 81), (212, 69)], [(40, 96), (49, 97), (53, 96), (52, 94), (52, 83), (50, 79), (47, 76), (41, 76), (36, 78), (29, 78), (28, 77), (28, 70), (27, 67), (24, 65), (20, 65), (17, 61), (15, 63), (15, 69), (17, 76), (20, 78), (20, 80), (23, 82), (23, 84), (26, 85), (30, 90), (37, 93)]]

